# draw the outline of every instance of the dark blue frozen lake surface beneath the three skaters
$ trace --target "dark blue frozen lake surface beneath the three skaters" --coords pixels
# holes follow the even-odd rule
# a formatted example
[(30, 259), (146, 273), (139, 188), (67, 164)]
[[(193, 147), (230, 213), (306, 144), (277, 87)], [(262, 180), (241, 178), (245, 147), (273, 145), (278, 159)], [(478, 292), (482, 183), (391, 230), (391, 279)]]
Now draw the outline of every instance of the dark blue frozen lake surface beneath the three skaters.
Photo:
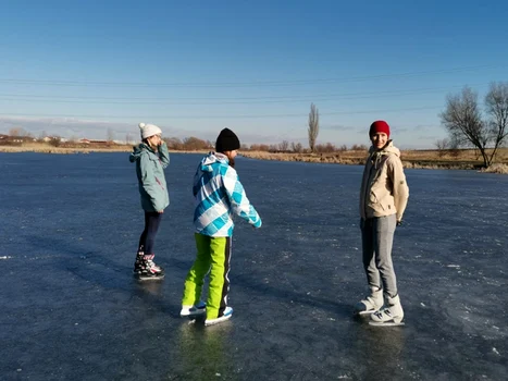
[(394, 261), (406, 325), (352, 318), (365, 292), (361, 167), (237, 160), (261, 230), (237, 221), (221, 325), (179, 314), (195, 257), (191, 181), (172, 155), (157, 238), (128, 153), (0, 153), (1, 380), (507, 380), (508, 176), (407, 170)]

